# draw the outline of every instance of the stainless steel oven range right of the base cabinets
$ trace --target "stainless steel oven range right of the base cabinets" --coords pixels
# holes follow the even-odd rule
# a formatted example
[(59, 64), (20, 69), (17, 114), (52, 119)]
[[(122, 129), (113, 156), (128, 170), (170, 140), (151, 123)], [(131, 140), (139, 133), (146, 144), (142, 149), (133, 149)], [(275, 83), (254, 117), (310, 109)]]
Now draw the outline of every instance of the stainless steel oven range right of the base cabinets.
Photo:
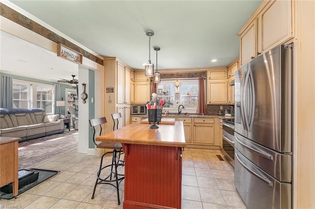
[(222, 153), (234, 167), (234, 119), (222, 119)]

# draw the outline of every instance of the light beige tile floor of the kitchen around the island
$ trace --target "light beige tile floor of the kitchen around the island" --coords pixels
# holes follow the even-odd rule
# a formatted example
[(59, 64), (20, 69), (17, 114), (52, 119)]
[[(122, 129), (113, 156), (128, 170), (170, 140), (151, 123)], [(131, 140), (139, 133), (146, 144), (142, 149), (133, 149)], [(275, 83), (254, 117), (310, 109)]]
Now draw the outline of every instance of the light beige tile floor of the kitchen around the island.
[[(246, 208), (234, 186), (234, 168), (217, 155), (223, 157), (220, 150), (186, 148), (183, 152), (182, 209)], [(99, 160), (73, 150), (32, 166), (61, 172), (17, 199), (1, 199), (0, 207), (122, 209), (124, 181), (120, 184), (121, 205), (117, 205), (115, 188), (106, 184), (98, 185), (91, 199)]]

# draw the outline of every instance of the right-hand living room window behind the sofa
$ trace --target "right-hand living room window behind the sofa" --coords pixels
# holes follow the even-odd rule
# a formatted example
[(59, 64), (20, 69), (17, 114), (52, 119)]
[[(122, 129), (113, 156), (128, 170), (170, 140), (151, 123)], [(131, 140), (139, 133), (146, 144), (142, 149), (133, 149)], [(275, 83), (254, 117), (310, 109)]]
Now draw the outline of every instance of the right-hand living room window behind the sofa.
[(37, 86), (37, 108), (43, 108), (47, 114), (53, 113), (54, 89), (46, 86)]

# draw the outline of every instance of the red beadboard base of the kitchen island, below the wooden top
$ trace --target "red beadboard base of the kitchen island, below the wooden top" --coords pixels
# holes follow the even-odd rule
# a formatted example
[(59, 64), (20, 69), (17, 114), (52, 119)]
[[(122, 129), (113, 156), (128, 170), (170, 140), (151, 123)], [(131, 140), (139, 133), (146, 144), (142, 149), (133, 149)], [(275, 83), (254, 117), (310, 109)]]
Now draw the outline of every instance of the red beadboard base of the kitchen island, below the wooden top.
[(124, 209), (180, 209), (182, 148), (123, 144)]

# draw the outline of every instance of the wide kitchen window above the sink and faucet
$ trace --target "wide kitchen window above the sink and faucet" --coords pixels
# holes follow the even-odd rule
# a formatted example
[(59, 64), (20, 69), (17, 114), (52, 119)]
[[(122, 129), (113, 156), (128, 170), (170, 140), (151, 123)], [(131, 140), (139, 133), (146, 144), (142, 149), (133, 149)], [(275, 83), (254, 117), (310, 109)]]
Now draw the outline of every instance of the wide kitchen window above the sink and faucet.
[(161, 80), (158, 83), (158, 98), (165, 100), (163, 108), (177, 110), (183, 104), (187, 110), (197, 110), (198, 79), (179, 80), (178, 88), (175, 88), (175, 82), (176, 80)]

